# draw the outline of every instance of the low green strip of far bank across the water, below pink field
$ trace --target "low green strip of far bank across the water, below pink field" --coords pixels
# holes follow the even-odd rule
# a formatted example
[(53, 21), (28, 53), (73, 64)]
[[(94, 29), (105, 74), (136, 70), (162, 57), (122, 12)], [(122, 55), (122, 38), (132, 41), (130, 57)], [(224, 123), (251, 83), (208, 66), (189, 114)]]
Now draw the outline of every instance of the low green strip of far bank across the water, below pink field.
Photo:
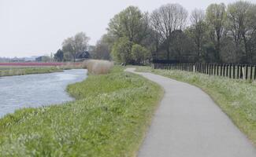
[(0, 76), (43, 74), (58, 71), (62, 71), (62, 69), (57, 67), (2, 67), (0, 68)]

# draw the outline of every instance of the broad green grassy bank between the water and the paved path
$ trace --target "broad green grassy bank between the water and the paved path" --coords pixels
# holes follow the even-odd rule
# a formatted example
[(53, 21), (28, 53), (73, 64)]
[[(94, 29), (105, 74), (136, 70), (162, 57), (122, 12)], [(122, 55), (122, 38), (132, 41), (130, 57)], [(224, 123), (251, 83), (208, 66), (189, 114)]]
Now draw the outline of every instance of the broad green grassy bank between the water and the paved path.
[(0, 156), (135, 156), (162, 89), (123, 70), (70, 85), (75, 101), (0, 119)]

